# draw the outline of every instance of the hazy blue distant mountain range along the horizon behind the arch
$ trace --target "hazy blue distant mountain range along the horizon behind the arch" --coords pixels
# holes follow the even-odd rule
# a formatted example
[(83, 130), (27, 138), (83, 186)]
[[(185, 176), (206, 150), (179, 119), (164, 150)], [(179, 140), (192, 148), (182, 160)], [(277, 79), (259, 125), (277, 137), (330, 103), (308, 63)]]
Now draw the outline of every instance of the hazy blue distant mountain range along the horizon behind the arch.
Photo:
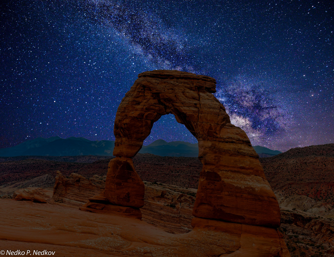
[[(0, 149), (0, 156), (77, 156), (77, 155), (104, 155), (112, 156), (115, 141), (91, 141), (83, 137), (69, 137), (66, 139), (56, 137), (27, 140), (19, 145)], [(281, 153), (263, 146), (254, 146), (260, 157), (270, 157)], [(198, 144), (183, 141), (166, 142), (158, 139), (143, 146), (140, 153), (152, 153), (160, 156), (197, 157)]]

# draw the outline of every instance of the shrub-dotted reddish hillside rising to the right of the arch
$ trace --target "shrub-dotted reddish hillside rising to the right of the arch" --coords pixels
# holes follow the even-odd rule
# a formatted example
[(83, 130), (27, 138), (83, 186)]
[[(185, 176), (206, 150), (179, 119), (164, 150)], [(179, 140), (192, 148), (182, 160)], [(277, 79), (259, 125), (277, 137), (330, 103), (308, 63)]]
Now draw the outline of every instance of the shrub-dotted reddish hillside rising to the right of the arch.
[(281, 206), (334, 217), (334, 144), (260, 158)]

